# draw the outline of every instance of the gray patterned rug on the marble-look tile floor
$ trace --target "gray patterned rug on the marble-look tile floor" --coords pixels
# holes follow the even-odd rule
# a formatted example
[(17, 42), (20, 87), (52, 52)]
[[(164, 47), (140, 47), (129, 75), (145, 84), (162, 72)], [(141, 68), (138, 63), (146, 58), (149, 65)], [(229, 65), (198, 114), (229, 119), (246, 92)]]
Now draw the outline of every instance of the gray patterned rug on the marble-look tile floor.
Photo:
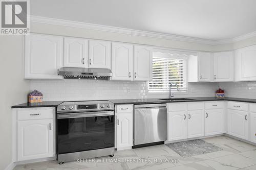
[(222, 150), (216, 145), (207, 143), (201, 139), (189, 140), (189, 141), (183, 141), (183, 142), (177, 142), (177, 143), (168, 143), (166, 145), (167, 147), (174, 150), (177, 154), (179, 154), (184, 158)]

